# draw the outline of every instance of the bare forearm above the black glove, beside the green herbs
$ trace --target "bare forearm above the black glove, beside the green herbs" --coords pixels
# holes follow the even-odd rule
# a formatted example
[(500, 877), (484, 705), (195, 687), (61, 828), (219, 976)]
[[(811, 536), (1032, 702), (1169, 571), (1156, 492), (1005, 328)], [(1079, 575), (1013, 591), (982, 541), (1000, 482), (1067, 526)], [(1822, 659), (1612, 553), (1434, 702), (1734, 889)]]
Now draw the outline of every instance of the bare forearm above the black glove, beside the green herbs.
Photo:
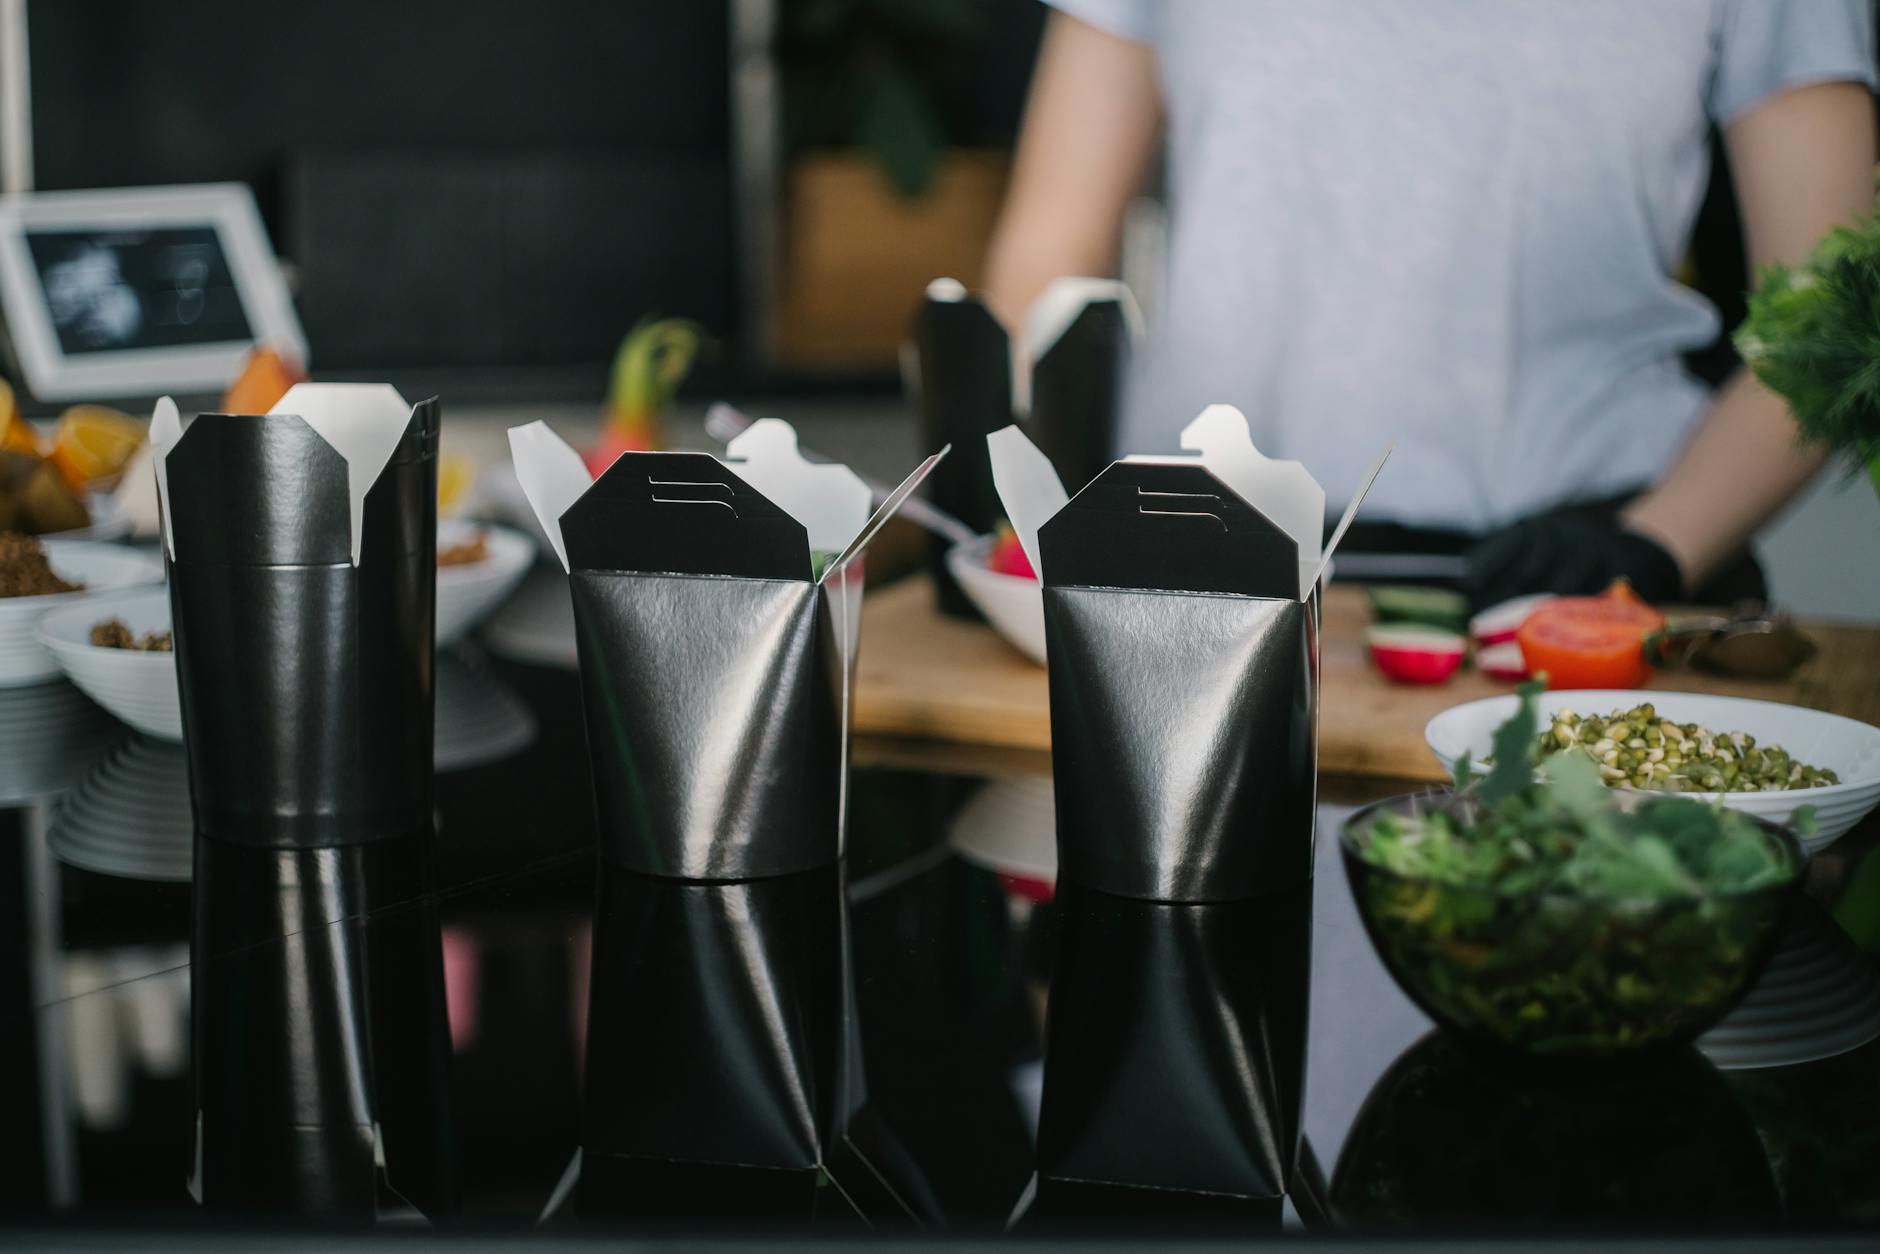
[(1824, 455), (1795, 442), (1782, 400), (1737, 368), (1671, 472), (1624, 523), (1677, 558), (1698, 587), (1748, 543), (1822, 468)]

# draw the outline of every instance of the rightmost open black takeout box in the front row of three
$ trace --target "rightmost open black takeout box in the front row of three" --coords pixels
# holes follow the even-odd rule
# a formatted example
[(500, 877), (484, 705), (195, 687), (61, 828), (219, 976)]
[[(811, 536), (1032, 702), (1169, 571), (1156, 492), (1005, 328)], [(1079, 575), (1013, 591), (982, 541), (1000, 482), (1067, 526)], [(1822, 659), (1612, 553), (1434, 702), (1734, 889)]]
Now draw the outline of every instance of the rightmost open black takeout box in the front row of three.
[[(1213, 406), (1190, 457), (1072, 500), (1019, 432), (993, 476), (1043, 583), (1058, 867), (1122, 897), (1224, 901), (1310, 874), (1324, 491)], [(1256, 504), (1258, 502), (1258, 504)]]

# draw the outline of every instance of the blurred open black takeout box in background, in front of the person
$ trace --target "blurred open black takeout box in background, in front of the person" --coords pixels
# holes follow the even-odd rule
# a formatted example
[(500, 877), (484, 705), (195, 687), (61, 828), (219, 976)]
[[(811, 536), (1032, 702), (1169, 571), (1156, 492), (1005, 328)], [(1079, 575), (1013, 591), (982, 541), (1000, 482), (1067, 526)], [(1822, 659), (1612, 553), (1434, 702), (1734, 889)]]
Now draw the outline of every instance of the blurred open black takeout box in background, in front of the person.
[[(1115, 280), (1058, 278), (1019, 337), (957, 280), (929, 284), (914, 320), (910, 391), (929, 447), (957, 449), (934, 472), (932, 502), (974, 532), (993, 530), (1002, 511), (985, 436), (1017, 419), (1073, 483), (1096, 478), (1117, 442), (1122, 370), (1139, 323), (1134, 297)], [(940, 607), (978, 617), (946, 570), (948, 541), (931, 543)]]

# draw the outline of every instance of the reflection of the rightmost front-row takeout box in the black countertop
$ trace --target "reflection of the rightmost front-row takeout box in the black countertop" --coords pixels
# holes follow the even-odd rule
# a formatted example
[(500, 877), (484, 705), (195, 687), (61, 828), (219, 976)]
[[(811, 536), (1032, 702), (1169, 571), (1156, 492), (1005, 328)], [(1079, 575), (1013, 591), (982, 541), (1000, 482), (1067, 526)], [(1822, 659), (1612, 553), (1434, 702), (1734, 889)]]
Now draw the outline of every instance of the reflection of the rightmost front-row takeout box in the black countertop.
[(1066, 884), (1058, 912), (1030, 1218), (1149, 1194), (1277, 1220), (1305, 1090), (1310, 880), (1211, 904)]

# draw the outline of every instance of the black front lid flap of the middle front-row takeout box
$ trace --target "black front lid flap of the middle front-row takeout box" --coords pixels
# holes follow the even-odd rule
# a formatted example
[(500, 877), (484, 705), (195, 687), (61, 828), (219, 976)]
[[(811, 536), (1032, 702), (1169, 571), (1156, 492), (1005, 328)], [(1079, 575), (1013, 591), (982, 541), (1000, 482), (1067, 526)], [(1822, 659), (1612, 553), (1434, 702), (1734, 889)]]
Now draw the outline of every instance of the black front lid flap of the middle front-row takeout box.
[(709, 453), (622, 453), (562, 543), (570, 570), (810, 581), (803, 525)]

